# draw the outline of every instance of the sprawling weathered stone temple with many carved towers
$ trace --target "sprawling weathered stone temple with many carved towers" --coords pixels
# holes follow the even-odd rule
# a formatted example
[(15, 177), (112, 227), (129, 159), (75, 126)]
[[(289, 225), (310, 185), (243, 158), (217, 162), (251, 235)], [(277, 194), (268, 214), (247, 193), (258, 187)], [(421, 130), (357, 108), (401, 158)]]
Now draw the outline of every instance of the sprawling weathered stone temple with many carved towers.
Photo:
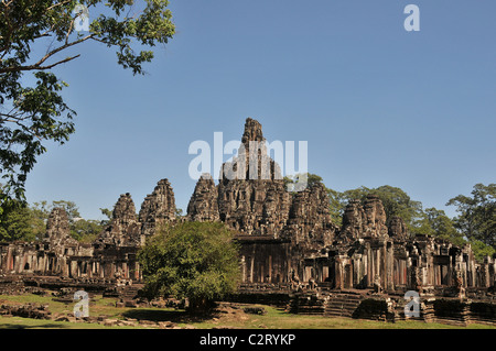
[[(352, 200), (336, 226), (324, 186), (289, 191), (265, 141), (261, 124), (247, 119), (238, 155), (223, 164), (217, 185), (208, 174), (197, 180), (184, 217), (176, 216), (168, 179), (158, 182), (138, 216), (131, 196), (121, 195), (110, 223), (93, 243), (72, 239), (67, 215), (54, 209), (39, 242), (0, 243), (0, 273), (4, 279), (140, 284), (137, 252), (159, 224), (222, 221), (240, 243), (242, 284), (234, 300), (366, 318), (393, 316), (405, 293), (417, 292), (425, 297), (425, 320), (445, 314), (441, 299), (472, 298), (486, 304), (479, 319), (495, 322), (495, 257), (477, 263), (468, 244), (411, 235), (401, 218), (386, 218), (375, 196)], [(247, 152), (251, 142), (261, 146)], [(360, 308), (366, 301), (368, 307)], [(468, 316), (473, 306), (467, 303), (468, 312), (450, 318), (468, 318), (460, 316)]]

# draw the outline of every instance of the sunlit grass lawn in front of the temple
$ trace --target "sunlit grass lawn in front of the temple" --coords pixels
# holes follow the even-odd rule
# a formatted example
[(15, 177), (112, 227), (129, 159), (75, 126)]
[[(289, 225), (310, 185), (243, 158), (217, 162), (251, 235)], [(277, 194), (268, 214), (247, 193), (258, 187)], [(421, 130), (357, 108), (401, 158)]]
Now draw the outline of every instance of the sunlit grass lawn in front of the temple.
[[(74, 304), (54, 301), (51, 296), (37, 295), (0, 295), (0, 304), (25, 304), (36, 303), (48, 305), (52, 314), (69, 314)], [(262, 306), (266, 315), (249, 315), (241, 309), (228, 308), (224, 312), (215, 316), (198, 318), (191, 317), (184, 310), (172, 308), (128, 308), (115, 307), (114, 298), (95, 296), (89, 304), (89, 315), (106, 316), (112, 319), (132, 318), (138, 320), (173, 321), (179, 327), (193, 326), (198, 329), (212, 328), (244, 328), (244, 329), (495, 329), (484, 325), (470, 325), (468, 327), (455, 327), (442, 323), (425, 323), (422, 321), (397, 321), (381, 322), (371, 320), (360, 320), (351, 318), (327, 318), (320, 316), (301, 316), (288, 314), (281, 309), (270, 306)], [(68, 322), (40, 320), (21, 317), (0, 316), (0, 329), (125, 329), (144, 328), (137, 327), (106, 327), (99, 323)]]

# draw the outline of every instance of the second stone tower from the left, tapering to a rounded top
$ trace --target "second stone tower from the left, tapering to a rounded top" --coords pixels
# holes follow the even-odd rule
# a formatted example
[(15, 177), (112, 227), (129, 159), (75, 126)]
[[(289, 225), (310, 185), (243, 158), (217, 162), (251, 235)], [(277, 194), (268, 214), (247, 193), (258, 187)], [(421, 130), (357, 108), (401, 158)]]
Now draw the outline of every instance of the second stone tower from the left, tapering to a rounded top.
[(112, 219), (100, 233), (98, 241), (117, 246), (138, 246), (141, 228), (136, 215), (134, 202), (129, 193), (122, 194), (112, 211)]

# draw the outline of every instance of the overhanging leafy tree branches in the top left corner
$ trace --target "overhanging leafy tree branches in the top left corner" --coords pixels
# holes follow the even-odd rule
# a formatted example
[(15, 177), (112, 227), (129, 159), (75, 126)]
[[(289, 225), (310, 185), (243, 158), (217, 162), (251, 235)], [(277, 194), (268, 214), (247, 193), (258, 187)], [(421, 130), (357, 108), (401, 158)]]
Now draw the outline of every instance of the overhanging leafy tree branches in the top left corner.
[[(168, 6), (168, 0), (1, 1), (0, 210), (11, 198), (25, 200), (26, 176), (46, 142), (64, 144), (75, 132), (76, 112), (61, 96), (67, 84), (53, 68), (78, 58), (76, 50), (95, 41), (115, 48), (120, 66), (143, 74), (142, 65), (153, 58), (150, 48), (175, 33)], [(87, 15), (85, 31), (79, 24)]]

